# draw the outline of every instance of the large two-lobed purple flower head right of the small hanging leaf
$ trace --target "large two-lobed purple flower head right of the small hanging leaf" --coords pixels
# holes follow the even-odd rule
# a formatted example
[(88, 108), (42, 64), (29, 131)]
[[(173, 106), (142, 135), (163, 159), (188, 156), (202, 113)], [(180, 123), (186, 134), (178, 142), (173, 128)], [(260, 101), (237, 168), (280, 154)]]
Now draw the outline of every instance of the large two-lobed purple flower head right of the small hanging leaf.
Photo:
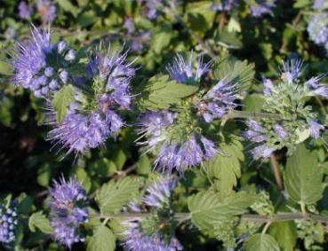
[(125, 58), (126, 53), (114, 56), (97, 53), (92, 57), (86, 72), (93, 96), (85, 97), (75, 90), (76, 100), (63, 121), (57, 122), (52, 114), (54, 129), (49, 133), (50, 140), (68, 147), (68, 153), (84, 153), (103, 145), (108, 137), (116, 137), (124, 126), (117, 110), (130, 109), (132, 101), (130, 80), (135, 70)]

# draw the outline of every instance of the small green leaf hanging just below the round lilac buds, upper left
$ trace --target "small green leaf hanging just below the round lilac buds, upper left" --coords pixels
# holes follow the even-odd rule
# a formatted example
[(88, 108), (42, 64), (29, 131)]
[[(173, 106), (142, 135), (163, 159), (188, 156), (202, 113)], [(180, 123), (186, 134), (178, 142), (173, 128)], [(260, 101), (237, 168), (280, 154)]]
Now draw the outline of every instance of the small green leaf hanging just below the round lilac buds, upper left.
[(75, 100), (74, 87), (70, 84), (64, 85), (53, 97), (52, 105), (56, 112), (57, 122), (62, 122), (68, 113), (69, 105)]

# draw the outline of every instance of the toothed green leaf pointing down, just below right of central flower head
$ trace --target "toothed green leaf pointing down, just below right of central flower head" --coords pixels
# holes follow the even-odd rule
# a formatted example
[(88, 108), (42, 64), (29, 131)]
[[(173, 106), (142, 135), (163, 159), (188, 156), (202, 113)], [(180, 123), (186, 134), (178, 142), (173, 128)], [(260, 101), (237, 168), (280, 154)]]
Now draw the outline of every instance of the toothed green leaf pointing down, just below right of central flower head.
[(212, 180), (214, 189), (225, 197), (233, 192), (237, 178), (241, 176), (241, 163), (244, 161), (243, 145), (239, 141), (220, 145), (221, 154), (211, 161), (204, 162), (207, 176)]

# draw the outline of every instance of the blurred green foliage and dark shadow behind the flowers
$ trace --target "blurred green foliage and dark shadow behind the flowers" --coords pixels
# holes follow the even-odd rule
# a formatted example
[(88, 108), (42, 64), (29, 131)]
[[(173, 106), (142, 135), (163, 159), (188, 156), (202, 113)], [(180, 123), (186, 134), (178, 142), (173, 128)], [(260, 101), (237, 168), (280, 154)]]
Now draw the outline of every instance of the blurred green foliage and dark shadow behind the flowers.
[[(326, 51), (309, 40), (307, 27), (311, 19), (312, 1), (310, 0), (277, 0), (272, 14), (261, 18), (253, 18), (249, 13), (247, 1), (233, 12), (212, 11), (211, 1), (179, 1), (177, 12), (188, 28), (181, 25), (174, 16), (163, 10), (158, 11), (154, 20), (145, 17), (145, 6), (138, 1), (125, 0), (56, 0), (57, 17), (50, 27), (55, 41), (65, 39), (75, 48), (89, 47), (103, 43), (125, 44), (128, 48), (132, 43), (140, 43), (142, 49), (130, 50), (130, 59), (137, 60), (139, 68), (132, 83), (138, 90), (141, 82), (149, 76), (164, 73), (165, 66), (172, 60), (176, 52), (196, 51), (208, 55), (209, 47), (214, 56), (227, 53), (237, 59), (247, 59), (255, 65), (255, 78), (239, 109), (257, 111), (260, 102), (261, 76), (278, 77), (278, 67), (283, 59), (304, 59), (307, 66), (306, 76), (327, 72), (328, 61)], [(34, 4), (29, 1), (29, 4)], [(15, 41), (27, 37), (29, 22), (36, 26), (47, 25), (43, 22), (43, 13), (35, 12), (28, 20), (23, 20), (18, 12), (19, 1), (0, 1), (0, 43), (1, 59), (7, 59), (7, 52)], [(162, 12), (163, 11), (163, 12)], [(136, 30), (129, 33), (124, 21), (132, 19)], [(141, 34), (149, 32), (143, 37)], [(200, 44), (200, 39), (205, 43)], [(84, 48), (85, 48), (84, 47)], [(207, 56), (206, 59), (210, 59)], [(105, 147), (92, 150), (84, 156), (75, 156), (44, 140), (49, 126), (44, 124), (44, 101), (35, 98), (28, 90), (14, 87), (10, 80), (10, 66), (4, 61), (0, 63), (0, 193), (5, 197), (11, 193), (14, 198), (23, 202), (26, 218), (23, 219), (20, 241), (17, 250), (64, 250), (52, 242), (41, 231), (28, 230), (28, 215), (39, 210), (47, 211), (47, 190), (53, 178), (76, 176), (84, 184), (84, 188), (92, 196), (94, 192), (119, 176), (153, 176), (152, 155), (141, 157), (140, 147), (133, 142), (137, 138), (133, 125), (139, 114), (127, 114), (128, 123), (132, 127), (122, 130), (116, 141), (108, 140)], [(315, 110), (324, 116), (327, 103), (324, 100), (312, 104)], [(234, 131), (238, 135), (243, 129), (242, 122), (229, 122), (226, 131)], [(286, 151), (276, 153), (276, 159), (252, 161), (249, 146), (244, 145), (244, 161), (240, 162), (241, 176), (238, 177), (236, 188), (260, 187), (270, 194), (276, 209), (284, 210), (288, 206), (284, 200), (271, 168), (278, 165), (284, 173)], [(324, 140), (316, 143), (308, 142), (308, 147), (316, 150), (320, 167), (324, 174), (328, 173), (327, 152)], [(51, 150), (52, 149), (52, 150)], [(65, 158), (64, 158), (65, 157)], [(276, 162), (277, 161), (277, 162)], [(181, 181), (177, 205), (181, 211), (187, 210), (187, 193), (206, 190), (209, 187), (202, 169), (190, 169)], [(318, 209), (326, 210), (328, 193), (318, 201)], [(297, 239), (297, 233), (272, 230), (276, 239), (284, 238), (281, 232), (286, 231), (292, 237), (282, 241), (284, 250), (306, 250), (303, 240)], [(287, 234), (287, 233), (286, 233)], [(327, 250), (328, 242), (324, 234), (316, 238), (316, 244), (308, 250)], [(177, 237), (186, 250), (223, 250), (220, 240), (209, 238), (198, 231), (195, 226), (186, 224), (179, 228)], [(291, 240), (292, 239), (292, 240)], [(290, 246), (285, 245), (290, 241)], [(288, 242), (289, 243), (289, 242)], [(84, 250), (84, 244), (78, 244), (73, 250)], [(117, 245), (117, 248), (119, 246)]]

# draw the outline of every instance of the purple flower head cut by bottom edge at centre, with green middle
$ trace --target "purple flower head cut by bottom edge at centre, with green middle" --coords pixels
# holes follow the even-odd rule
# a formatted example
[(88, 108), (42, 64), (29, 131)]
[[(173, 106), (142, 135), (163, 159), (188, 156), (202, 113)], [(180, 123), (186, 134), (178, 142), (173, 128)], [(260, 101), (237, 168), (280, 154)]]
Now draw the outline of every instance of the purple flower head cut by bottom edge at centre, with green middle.
[[(174, 178), (162, 178), (151, 184), (142, 201), (148, 206), (149, 215), (139, 220), (127, 220), (124, 225), (124, 249), (128, 251), (175, 251), (182, 250), (176, 239), (175, 219), (172, 215), (171, 196), (177, 184)], [(139, 212), (139, 207), (133, 204)], [(161, 213), (159, 213), (161, 211)], [(163, 227), (158, 227), (161, 224)]]

